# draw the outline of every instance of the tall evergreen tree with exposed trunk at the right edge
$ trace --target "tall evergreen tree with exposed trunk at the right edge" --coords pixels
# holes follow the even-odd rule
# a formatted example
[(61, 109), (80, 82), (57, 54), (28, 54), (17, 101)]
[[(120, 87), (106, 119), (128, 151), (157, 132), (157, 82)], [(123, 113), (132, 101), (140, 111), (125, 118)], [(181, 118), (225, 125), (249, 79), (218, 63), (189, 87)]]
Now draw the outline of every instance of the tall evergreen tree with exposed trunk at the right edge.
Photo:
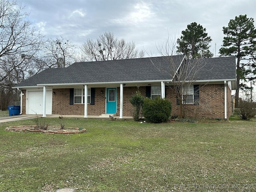
[[(228, 27), (223, 27), (226, 35), (223, 39), (220, 54), (222, 56), (236, 56), (236, 104), (238, 103), (240, 88), (246, 88), (244, 82), (255, 79), (256, 55), (256, 29), (253, 18), (246, 15), (236, 16), (228, 23)], [(241, 80), (243, 80), (241, 82)]]

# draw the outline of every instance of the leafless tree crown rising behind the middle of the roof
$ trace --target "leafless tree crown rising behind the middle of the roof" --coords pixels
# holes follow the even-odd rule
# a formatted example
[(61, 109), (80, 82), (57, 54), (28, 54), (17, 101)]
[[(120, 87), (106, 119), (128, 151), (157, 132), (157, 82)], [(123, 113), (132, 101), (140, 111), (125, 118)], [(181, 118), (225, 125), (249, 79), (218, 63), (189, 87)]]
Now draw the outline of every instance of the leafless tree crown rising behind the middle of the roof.
[(114, 37), (113, 32), (104, 32), (96, 41), (87, 39), (80, 47), (86, 61), (106, 61), (143, 57), (144, 52), (135, 48), (135, 43)]

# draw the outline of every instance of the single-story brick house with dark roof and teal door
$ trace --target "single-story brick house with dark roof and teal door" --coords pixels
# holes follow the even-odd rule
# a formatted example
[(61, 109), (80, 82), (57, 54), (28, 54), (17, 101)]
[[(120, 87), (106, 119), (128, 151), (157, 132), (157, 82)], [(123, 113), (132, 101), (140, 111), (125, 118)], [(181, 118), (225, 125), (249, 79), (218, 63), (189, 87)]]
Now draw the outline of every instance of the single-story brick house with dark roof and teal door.
[[(170, 56), (179, 68), (184, 55)], [(235, 57), (205, 58), (189, 88), (187, 117), (228, 119), (232, 113), (231, 91), (236, 89)], [(172, 102), (172, 115), (179, 114), (173, 77), (166, 57), (135, 58), (99, 62), (76, 62), (67, 68), (46, 69), (17, 84), (22, 114), (131, 116), (129, 98), (139, 90), (145, 97), (161, 96)], [(160, 69), (161, 68), (161, 69)], [(177, 70), (178, 72), (178, 70)], [(196, 99), (202, 100), (199, 105)], [(204, 111), (207, 104), (209, 110)]]

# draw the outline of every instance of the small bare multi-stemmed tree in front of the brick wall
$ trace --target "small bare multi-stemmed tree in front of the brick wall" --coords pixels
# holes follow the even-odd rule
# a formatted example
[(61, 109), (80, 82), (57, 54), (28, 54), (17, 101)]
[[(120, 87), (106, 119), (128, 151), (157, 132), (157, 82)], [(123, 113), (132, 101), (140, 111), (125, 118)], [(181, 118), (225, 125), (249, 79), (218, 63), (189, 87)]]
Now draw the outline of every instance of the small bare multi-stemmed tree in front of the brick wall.
[[(195, 100), (193, 100), (193, 92), (192, 85), (196, 81), (198, 77), (198, 72), (205, 66), (206, 62), (203, 58), (196, 59), (188, 59), (187, 56), (183, 55), (182, 62), (177, 63), (174, 60), (174, 53), (176, 47), (176, 40), (168, 38), (162, 46), (158, 46), (158, 52), (164, 57), (166, 64), (155, 63), (151, 60), (152, 64), (158, 68), (158, 70), (164, 71), (170, 75), (172, 82), (169, 86), (175, 94), (177, 98), (177, 102), (180, 106), (180, 114), (179, 118), (184, 118), (185, 116), (185, 106), (188, 103), (197, 104)], [(199, 86), (198, 88), (199, 89)], [(198, 90), (195, 90), (198, 92)], [(194, 93), (195, 95), (196, 93)]]

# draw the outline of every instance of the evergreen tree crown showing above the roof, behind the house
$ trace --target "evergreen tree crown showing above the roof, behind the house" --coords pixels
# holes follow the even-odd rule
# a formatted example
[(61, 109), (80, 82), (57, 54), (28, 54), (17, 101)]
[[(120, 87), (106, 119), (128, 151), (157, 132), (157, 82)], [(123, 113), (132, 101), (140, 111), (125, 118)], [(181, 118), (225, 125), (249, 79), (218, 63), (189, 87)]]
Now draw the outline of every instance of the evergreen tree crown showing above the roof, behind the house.
[(212, 39), (208, 37), (206, 28), (193, 22), (181, 33), (182, 36), (178, 39), (177, 46), (179, 54), (186, 54), (189, 58), (208, 58), (213, 56), (209, 50), (209, 44)]

